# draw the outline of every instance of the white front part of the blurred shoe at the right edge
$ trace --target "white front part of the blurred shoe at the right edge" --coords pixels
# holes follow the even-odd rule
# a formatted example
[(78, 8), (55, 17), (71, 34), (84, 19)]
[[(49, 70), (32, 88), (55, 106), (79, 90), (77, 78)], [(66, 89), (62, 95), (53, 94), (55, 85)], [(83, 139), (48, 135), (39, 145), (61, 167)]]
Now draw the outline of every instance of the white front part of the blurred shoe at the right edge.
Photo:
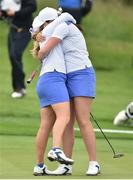
[(128, 117), (126, 116), (125, 110), (120, 111), (114, 119), (114, 125), (119, 125), (127, 119)]

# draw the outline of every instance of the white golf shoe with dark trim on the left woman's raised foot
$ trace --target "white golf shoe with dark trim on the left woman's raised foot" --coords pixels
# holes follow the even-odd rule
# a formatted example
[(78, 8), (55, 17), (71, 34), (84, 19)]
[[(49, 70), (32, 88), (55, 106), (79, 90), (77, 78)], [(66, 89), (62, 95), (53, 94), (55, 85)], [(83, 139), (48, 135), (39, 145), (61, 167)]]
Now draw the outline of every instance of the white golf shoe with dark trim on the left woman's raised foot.
[(67, 158), (64, 152), (60, 148), (56, 148), (55, 150), (51, 149), (48, 153), (48, 159), (50, 161), (58, 161), (61, 164), (73, 164), (74, 160)]

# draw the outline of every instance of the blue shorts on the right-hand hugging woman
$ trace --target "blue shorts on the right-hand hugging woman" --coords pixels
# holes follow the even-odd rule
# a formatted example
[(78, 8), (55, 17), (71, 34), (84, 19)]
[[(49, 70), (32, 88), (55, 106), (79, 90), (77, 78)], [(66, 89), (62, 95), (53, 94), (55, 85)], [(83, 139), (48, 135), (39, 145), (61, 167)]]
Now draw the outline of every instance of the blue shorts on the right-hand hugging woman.
[(68, 73), (66, 85), (70, 98), (76, 96), (95, 98), (96, 76), (93, 67)]

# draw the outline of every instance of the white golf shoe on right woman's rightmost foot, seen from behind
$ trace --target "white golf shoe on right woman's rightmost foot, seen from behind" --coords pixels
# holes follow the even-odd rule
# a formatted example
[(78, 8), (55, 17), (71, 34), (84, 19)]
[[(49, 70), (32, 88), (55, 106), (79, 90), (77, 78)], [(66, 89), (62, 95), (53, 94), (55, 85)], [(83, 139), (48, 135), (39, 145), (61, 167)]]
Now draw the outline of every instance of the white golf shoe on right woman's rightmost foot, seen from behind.
[(86, 175), (87, 176), (96, 176), (98, 174), (100, 174), (100, 166), (99, 166), (98, 162), (90, 161), (89, 168), (86, 172)]

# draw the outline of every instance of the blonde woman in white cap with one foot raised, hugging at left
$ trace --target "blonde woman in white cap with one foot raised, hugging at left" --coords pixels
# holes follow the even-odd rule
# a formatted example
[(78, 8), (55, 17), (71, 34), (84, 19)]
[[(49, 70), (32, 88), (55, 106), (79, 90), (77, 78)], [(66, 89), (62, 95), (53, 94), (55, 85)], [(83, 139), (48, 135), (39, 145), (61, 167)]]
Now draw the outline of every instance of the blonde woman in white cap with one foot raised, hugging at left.
[[(36, 39), (36, 35), (42, 28), (58, 16), (57, 11), (53, 8), (45, 8), (39, 15), (41, 13), (45, 14), (43, 21), (36, 17), (33, 22), (34, 32), (32, 35), (34, 39)], [(39, 27), (38, 30), (35, 30), (36, 26)], [(34, 56), (37, 56), (39, 50), (45, 47), (47, 39), (40, 43), (36, 42), (32, 50)], [(52, 149), (48, 153), (48, 159), (67, 165), (74, 163), (61, 150), (63, 133), (70, 120), (69, 94), (65, 84), (66, 67), (61, 45), (59, 44), (53, 48), (47, 57), (42, 58), (41, 61), (42, 68), (37, 82), (41, 122), (36, 136), (37, 165), (34, 167), (34, 175), (36, 176), (49, 173), (44, 163), (44, 153), (51, 130), (53, 133), (53, 143)]]

